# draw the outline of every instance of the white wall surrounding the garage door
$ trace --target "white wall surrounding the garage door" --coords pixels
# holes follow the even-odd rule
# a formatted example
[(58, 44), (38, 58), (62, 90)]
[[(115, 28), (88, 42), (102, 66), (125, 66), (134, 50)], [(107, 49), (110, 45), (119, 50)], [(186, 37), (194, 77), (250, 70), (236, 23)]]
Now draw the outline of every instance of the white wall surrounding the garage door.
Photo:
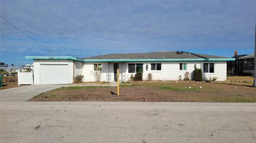
[[(68, 83), (73, 83), (73, 60), (34, 60), (34, 84), (41, 84), (40, 64), (67, 64), (68, 65)], [(49, 72), (51, 70), (49, 69)]]

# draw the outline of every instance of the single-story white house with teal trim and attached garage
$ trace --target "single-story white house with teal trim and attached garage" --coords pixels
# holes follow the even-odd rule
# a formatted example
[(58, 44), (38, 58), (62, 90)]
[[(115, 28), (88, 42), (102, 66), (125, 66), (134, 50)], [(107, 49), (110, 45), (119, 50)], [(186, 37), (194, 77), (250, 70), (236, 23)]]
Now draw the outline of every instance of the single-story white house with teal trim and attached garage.
[[(113, 82), (117, 80), (117, 69), (120, 80), (128, 81), (136, 72), (143, 72), (143, 80), (148, 73), (153, 80), (179, 80), (184, 74), (201, 68), (204, 78), (217, 77), (227, 79), (227, 61), (234, 58), (196, 54), (189, 52), (151, 52), (108, 54), (94, 57), (77, 58), (72, 56), (27, 56), (34, 59), (34, 83), (67, 84), (73, 82), (77, 74), (84, 75), (84, 81)], [(191, 78), (191, 77), (190, 77)]]

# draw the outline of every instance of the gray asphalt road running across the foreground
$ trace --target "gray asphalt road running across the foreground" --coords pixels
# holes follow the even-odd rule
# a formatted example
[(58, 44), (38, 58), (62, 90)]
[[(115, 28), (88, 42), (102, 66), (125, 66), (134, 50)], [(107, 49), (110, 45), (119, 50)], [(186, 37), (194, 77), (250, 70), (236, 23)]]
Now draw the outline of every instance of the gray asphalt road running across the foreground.
[(1, 142), (256, 142), (256, 104), (1, 102)]

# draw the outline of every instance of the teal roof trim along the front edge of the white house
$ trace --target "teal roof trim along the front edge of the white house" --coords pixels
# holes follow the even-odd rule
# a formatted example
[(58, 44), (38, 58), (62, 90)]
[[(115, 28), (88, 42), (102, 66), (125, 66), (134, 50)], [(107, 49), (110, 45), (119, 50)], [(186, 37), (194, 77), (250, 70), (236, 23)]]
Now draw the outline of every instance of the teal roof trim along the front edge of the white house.
[(152, 61), (235, 61), (235, 58), (171, 58), (171, 59), (82, 59), (73, 56), (26, 56), (27, 59), (70, 59), (82, 62), (152, 62)]

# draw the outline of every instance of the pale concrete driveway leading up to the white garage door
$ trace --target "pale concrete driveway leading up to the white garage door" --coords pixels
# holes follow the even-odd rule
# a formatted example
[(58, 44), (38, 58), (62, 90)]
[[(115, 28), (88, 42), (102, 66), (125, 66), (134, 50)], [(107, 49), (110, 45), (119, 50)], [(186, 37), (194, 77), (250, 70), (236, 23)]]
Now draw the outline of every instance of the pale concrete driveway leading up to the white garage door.
[(26, 102), (30, 98), (43, 92), (60, 88), (66, 85), (31, 85), (0, 90), (1, 102)]

